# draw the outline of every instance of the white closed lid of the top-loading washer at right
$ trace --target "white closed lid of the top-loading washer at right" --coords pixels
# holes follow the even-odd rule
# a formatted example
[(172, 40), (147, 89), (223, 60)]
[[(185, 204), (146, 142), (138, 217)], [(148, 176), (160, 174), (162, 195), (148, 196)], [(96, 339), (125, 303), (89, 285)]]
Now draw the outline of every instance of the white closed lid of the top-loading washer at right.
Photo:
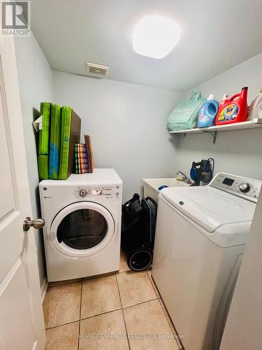
[(164, 188), (161, 196), (212, 233), (222, 225), (252, 221), (256, 204), (210, 186)]

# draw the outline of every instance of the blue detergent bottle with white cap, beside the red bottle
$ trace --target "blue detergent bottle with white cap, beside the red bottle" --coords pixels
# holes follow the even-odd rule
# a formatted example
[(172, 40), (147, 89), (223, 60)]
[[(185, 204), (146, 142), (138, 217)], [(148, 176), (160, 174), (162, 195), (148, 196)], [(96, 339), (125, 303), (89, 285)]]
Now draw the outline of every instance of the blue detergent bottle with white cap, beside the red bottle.
[(217, 116), (219, 102), (214, 99), (214, 94), (210, 94), (208, 99), (201, 104), (198, 113), (198, 127), (210, 127), (214, 125), (214, 119)]

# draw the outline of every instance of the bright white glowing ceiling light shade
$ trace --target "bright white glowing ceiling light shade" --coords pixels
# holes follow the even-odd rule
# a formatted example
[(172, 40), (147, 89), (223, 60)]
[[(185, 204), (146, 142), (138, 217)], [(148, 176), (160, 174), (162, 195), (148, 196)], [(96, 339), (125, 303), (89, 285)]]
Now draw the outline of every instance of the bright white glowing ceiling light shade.
[(180, 26), (168, 18), (150, 15), (133, 30), (133, 50), (139, 55), (163, 58), (180, 41)]

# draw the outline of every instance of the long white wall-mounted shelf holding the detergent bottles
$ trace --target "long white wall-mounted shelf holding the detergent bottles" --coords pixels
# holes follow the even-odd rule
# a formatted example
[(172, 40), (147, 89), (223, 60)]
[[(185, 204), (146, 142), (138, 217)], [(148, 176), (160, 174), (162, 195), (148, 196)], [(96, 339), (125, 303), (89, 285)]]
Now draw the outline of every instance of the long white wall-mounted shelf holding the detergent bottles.
[(247, 122), (242, 123), (233, 123), (233, 124), (225, 124), (225, 125), (217, 125), (214, 127), (201, 127), (201, 129), (189, 129), (189, 130), (179, 130), (174, 132), (169, 132), (169, 134), (212, 134), (213, 136), (213, 144), (217, 138), (217, 132), (228, 132), (233, 130), (247, 130), (247, 129), (255, 129), (257, 127), (262, 127), (262, 118), (255, 118), (253, 120), (247, 120)]

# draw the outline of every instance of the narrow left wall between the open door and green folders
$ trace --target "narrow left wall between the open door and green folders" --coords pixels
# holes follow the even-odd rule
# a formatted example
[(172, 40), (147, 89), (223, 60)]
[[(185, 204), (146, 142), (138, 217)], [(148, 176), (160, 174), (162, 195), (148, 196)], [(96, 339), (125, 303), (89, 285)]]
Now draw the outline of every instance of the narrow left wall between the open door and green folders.
[[(15, 50), (20, 85), (24, 139), (27, 151), (31, 205), (33, 217), (38, 218), (41, 214), (38, 200), (37, 139), (32, 123), (39, 116), (40, 102), (52, 102), (53, 100), (52, 69), (33, 34), (29, 38), (15, 38)], [(44, 288), (45, 258), (42, 230), (35, 230), (35, 238), (40, 283), (41, 288)]]

